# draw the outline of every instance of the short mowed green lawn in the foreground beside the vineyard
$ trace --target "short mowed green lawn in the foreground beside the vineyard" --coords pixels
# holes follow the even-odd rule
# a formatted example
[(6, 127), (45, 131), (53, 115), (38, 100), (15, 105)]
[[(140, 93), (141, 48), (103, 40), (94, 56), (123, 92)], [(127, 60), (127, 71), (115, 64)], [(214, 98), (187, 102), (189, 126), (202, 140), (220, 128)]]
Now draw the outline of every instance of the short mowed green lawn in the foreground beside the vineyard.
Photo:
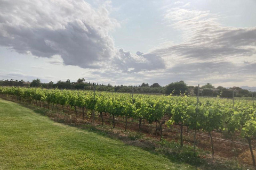
[(0, 169), (195, 169), (0, 99)]

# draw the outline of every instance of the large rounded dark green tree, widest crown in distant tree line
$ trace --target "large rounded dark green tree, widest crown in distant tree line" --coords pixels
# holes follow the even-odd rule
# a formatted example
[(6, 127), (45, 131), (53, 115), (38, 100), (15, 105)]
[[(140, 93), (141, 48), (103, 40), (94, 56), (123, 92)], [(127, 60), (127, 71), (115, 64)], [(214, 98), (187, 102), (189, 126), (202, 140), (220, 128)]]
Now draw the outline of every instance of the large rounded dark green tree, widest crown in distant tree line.
[(187, 84), (184, 81), (177, 81), (173, 82), (165, 87), (165, 94), (173, 94), (173, 95), (180, 95), (187, 92), (188, 87)]

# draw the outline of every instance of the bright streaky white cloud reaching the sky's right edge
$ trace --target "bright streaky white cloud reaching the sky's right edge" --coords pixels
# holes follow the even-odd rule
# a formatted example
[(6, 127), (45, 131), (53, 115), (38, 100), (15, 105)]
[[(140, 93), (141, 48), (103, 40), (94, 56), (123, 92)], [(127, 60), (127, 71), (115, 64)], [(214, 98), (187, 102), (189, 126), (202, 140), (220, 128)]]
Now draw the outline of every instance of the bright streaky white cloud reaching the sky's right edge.
[(218, 17), (209, 11), (181, 7), (167, 10), (165, 19), (182, 31), (184, 41), (169, 46), (161, 45), (152, 53), (189, 62), (252, 58), (256, 52), (256, 27), (223, 27)]

